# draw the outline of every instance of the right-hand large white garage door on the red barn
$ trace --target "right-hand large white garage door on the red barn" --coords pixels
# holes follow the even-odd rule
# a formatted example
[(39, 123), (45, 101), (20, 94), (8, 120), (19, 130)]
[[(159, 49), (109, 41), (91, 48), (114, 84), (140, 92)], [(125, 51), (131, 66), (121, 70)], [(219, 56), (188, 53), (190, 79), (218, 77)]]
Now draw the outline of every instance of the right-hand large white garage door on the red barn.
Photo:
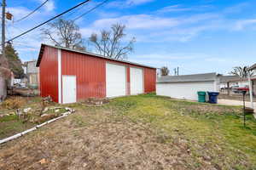
[(143, 69), (130, 68), (131, 94), (143, 94)]

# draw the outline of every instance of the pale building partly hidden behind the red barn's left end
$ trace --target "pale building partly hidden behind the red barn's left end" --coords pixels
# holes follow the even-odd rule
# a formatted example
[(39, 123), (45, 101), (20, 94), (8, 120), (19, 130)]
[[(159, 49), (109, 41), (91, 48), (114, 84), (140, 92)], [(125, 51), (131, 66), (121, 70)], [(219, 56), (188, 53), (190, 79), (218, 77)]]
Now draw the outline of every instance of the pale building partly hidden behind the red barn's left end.
[(24, 65), (28, 86), (38, 86), (39, 69), (37, 67), (37, 60), (26, 61)]

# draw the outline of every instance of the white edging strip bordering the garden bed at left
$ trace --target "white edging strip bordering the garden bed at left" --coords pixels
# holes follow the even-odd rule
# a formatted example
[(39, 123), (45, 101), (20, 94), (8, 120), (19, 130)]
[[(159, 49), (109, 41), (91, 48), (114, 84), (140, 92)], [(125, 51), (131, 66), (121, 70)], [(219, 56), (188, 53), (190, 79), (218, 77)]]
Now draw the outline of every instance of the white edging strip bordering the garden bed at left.
[(39, 125), (37, 125), (36, 127), (32, 127), (32, 128), (30, 128), (30, 129), (27, 129), (26, 131), (23, 131), (23, 132), (21, 132), (21, 133), (17, 133), (17, 134), (15, 134), (15, 135), (13, 135), (13, 136), (10, 136), (10, 137), (6, 138), (6, 139), (2, 139), (2, 140), (0, 140), (0, 144), (6, 143), (6, 142), (8, 142), (9, 140), (17, 139), (17, 138), (23, 136), (23, 135), (26, 134), (26, 133), (30, 133), (30, 132), (32, 132), (32, 131), (34, 131), (34, 130), (37, 130), (39, 127), (43, 127), (44, 125), (49, 124), (50, 122), (55, 122), (55, 121), (58, 120), (58, 119), (61, 119), (61, 118), (63, 118), (63, 117), (66, 117), (66, 116), (70, 115), (71, 113), (73, 113), (73, 111), (67, 111), (67, 112), (63, 113), (62, 116), (58, 116), (58, 117), (56, 117), (56, 118), (54, 118), (54, 119), (51, 119), (51, 120), (49, 120), (49, 121), (47, 121), (47, 122), (44, 122), (44, 123), (42, 123), (42, 124), (39, 124)]

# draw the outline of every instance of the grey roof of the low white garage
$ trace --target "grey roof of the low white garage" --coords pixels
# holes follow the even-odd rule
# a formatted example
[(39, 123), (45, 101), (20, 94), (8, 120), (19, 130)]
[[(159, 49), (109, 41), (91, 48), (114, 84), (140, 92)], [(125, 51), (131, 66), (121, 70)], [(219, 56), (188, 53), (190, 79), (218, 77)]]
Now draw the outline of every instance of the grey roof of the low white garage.
[(204, 74), (158, 77), (157, 82), (213, 82), (216, 80), (216, 77), (216, 73), (211, 72)]

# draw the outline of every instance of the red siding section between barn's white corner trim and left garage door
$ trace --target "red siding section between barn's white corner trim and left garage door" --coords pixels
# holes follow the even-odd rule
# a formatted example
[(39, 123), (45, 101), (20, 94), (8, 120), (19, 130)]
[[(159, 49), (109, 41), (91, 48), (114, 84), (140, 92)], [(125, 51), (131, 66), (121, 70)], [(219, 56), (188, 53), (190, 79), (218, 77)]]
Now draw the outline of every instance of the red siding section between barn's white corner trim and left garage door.
[(77, 100), (106, 96), (106, 65), (104, 59), (61, 50), (62, 75), (77, 77)]

